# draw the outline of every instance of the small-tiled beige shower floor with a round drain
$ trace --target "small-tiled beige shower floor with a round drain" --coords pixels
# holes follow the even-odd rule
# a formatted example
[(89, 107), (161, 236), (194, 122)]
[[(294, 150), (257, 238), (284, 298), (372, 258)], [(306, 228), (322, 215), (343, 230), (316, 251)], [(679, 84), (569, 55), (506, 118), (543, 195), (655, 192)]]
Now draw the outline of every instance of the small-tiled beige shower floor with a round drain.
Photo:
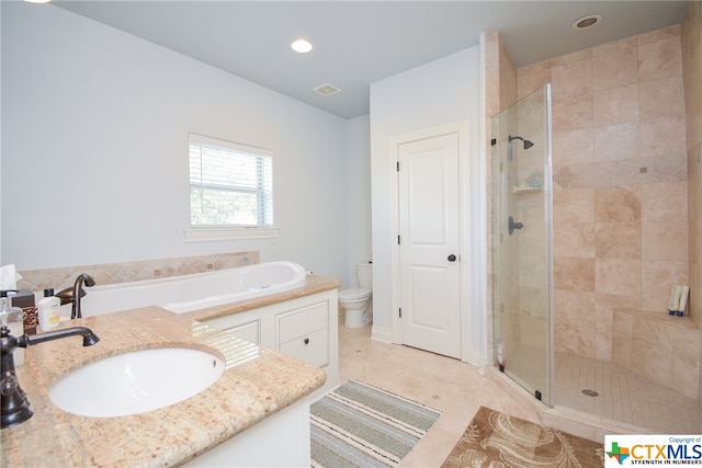
[[(554, 402), (657, 434), (702, 434), (702, 408), (615, 364), (556, 353)], [(582, 390), (595, 390), (588, 397)]]

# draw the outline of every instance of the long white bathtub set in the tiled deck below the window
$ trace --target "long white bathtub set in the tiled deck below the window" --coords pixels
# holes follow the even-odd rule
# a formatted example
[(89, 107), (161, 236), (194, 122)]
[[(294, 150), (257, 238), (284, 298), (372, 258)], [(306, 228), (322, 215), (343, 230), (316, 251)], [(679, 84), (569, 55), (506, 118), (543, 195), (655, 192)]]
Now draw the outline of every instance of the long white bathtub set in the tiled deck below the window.
[[(182, 313), (295, 289), (306, 282), (305, 269), (297, 263), (257, 263), (192, 275), (87, 287), (81, 310), (83, 317), (90, 317), (160, 306)], [(70, 307), (61, 307), (61, 319), (70, 317)]]

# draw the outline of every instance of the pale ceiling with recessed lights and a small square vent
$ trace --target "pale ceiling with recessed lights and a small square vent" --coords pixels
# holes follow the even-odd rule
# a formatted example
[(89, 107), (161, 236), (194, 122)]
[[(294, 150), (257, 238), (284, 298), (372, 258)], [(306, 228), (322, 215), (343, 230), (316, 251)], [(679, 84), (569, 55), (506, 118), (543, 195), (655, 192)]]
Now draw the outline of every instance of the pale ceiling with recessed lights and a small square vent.
[[(53, 4), (343, 118), (370, 84), (478, 45), (498, 31), (517, 67), (680, 23), (686, 1), (110, 1)], [(603, 21), (574, 31), (575, 20)], [(312, 42), (308, 54), (290, 45)], [(313, 91), (330, 83), (341, 91)]]

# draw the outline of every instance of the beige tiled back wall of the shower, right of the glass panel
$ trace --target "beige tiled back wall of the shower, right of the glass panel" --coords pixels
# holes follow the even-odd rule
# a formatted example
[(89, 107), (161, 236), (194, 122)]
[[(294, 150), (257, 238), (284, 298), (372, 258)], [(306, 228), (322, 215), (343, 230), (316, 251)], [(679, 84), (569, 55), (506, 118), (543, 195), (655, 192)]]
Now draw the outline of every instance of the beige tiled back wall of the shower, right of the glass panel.
[(518, 70), (553, 87), (556, 351), (612, 358), (615, 309), (688, 284), (680, 27)]

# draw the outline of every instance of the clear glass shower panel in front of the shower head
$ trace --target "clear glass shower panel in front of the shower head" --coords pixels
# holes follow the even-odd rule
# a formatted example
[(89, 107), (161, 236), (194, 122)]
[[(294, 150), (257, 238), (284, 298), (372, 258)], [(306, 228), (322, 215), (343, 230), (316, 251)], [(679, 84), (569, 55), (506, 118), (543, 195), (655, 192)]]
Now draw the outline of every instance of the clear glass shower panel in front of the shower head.
[(547, 406), (553, 375), (551, 85), (492, 119), (495, 365)]

